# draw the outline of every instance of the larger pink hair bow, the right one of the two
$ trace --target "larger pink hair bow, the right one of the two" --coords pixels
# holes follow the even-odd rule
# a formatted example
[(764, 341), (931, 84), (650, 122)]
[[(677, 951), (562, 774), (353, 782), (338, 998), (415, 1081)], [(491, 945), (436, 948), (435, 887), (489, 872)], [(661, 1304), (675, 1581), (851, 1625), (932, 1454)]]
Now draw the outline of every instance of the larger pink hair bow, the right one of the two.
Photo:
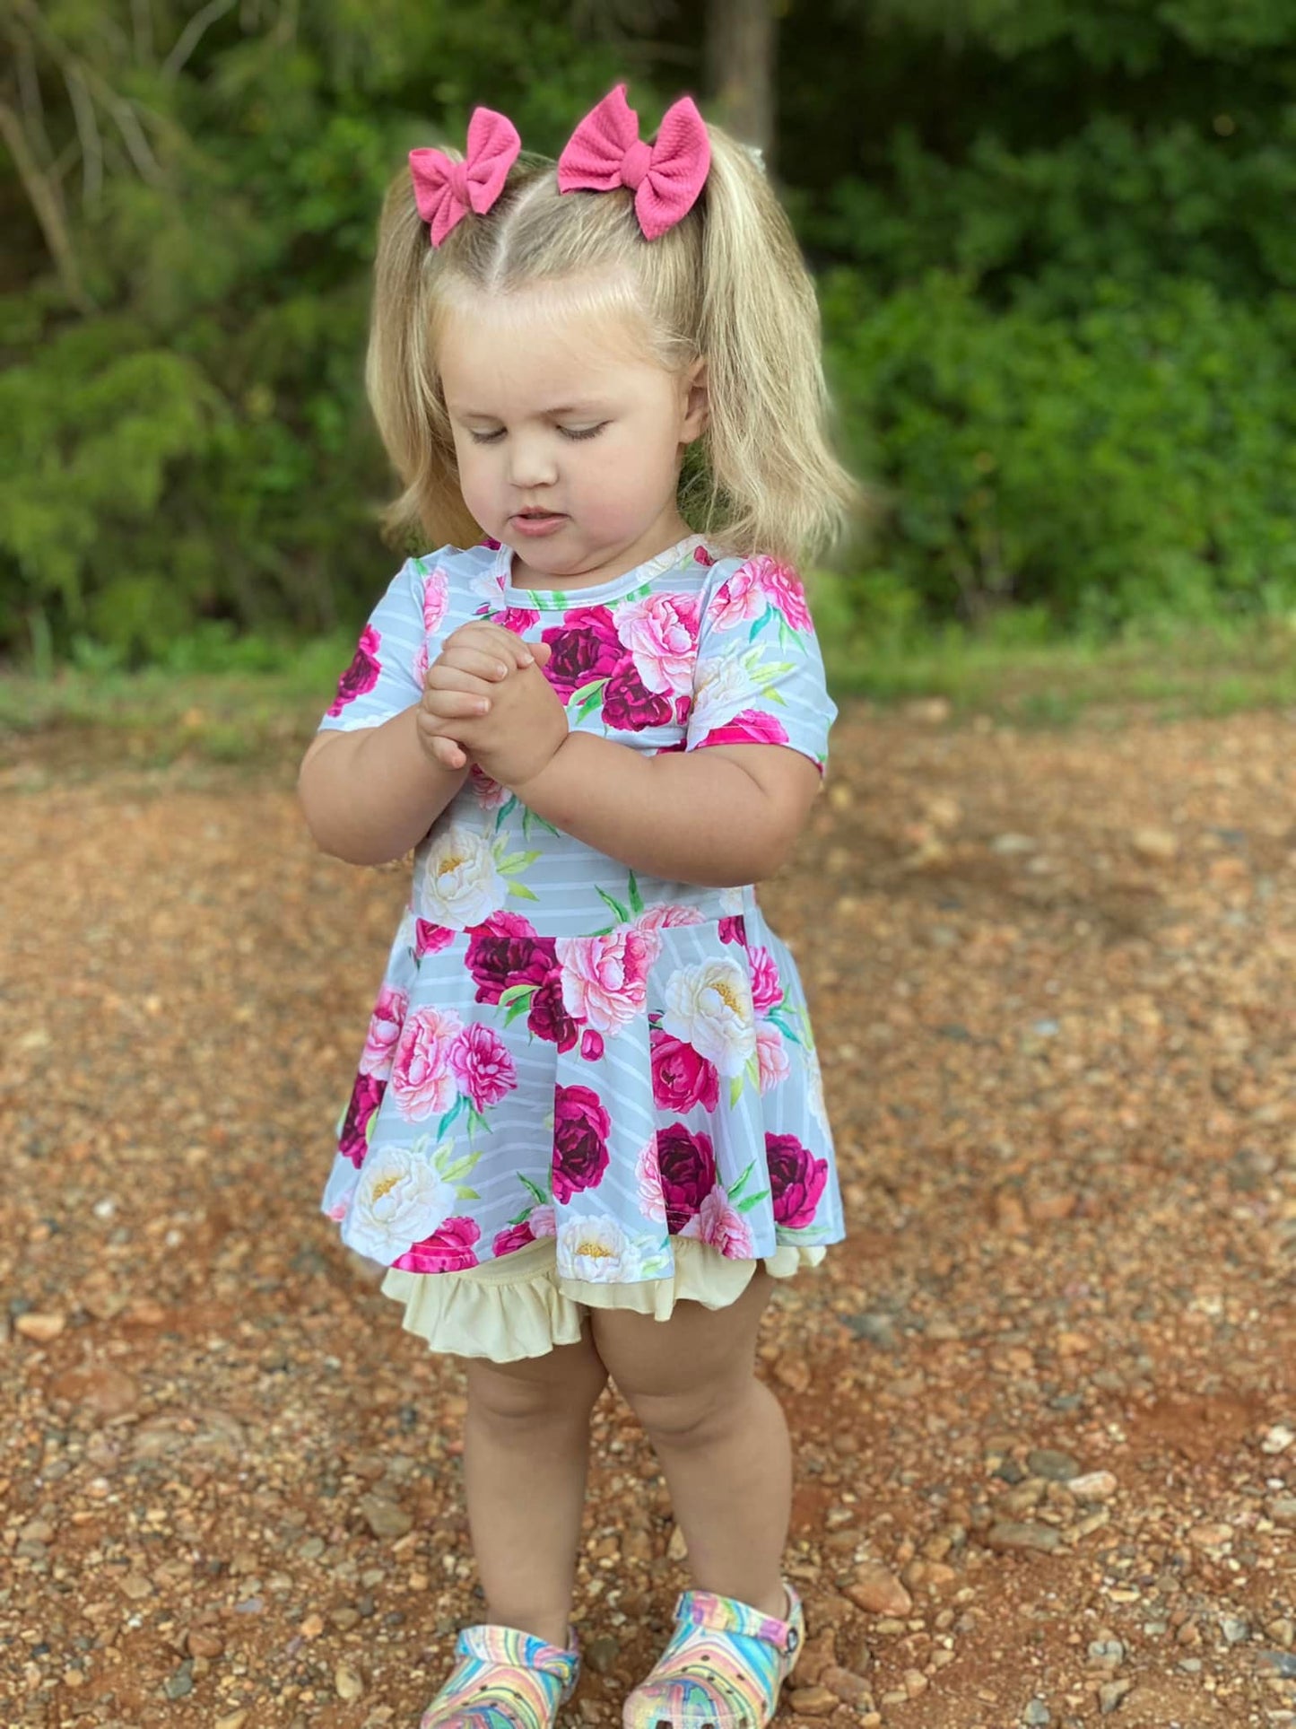
[(626, 100), (626, 85), (617, 85), (569, 138), (558, 157), (558, 190), (631, 187), (645, 239), (655, 240), (693, 209), (708, 168), (710, 140), (691, 97), (670, 104), (657, 142), (648, 145), (639, 138), (639, 116)]

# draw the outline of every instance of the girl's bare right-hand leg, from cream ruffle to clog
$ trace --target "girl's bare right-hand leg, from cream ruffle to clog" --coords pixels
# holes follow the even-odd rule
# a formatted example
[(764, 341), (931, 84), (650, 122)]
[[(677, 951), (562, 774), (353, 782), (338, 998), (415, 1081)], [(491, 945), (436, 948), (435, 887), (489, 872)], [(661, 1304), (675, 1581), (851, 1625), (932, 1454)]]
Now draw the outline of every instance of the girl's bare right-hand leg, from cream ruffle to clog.
[(760, 1267), (727, 1309), (681, 1302), (669, 1321), (594, 1309), (591, 1324), (662, 1461), (695, 1585), (783, 1620), (791, 1442), (783, 1407), (755, 1378), (769, 1290)]

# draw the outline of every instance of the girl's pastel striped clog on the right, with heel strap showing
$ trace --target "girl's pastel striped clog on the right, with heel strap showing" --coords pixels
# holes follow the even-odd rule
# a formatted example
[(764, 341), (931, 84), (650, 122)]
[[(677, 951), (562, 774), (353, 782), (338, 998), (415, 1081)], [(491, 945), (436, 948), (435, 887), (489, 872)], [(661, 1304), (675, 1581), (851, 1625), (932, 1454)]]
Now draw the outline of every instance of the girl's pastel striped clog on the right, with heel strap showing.
[(786, 1622), (734, 1598), (686, 1591), (676, 1630), (646, 1681), (626, 1700), (626, 1729), (760, 1729), (805, 1641), (805, 1615), (791, 1585)]

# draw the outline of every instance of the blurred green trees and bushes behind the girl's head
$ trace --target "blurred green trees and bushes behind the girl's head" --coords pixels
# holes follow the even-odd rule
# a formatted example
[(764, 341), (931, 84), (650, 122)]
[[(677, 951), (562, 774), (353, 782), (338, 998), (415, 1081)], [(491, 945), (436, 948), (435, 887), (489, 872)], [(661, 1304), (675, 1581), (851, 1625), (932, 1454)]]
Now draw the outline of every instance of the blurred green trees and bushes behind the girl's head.
[[(479, 100), (555, 150), (705, 95), (698, 9), (0, 0), (0, 655), (349, 628), (392, 567), (361, 356), (382, 188)], [(888, 629), (1296, 607), (1291, 0), (790, 0), (843, 562)], [(261, 647), (259, 647), (261, 645)]]

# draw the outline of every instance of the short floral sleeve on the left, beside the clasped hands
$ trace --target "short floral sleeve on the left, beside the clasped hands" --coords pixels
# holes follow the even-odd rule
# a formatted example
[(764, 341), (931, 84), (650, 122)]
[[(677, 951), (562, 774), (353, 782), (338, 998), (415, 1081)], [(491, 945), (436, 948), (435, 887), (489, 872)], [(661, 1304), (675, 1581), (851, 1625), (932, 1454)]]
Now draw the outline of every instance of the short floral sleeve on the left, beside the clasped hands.
[(408, 558), (359, 633), (351, 666), (316, 731), (380, 726), (423, 695), (427, 638), (446, 610), (446, 574), (435, 558)]

